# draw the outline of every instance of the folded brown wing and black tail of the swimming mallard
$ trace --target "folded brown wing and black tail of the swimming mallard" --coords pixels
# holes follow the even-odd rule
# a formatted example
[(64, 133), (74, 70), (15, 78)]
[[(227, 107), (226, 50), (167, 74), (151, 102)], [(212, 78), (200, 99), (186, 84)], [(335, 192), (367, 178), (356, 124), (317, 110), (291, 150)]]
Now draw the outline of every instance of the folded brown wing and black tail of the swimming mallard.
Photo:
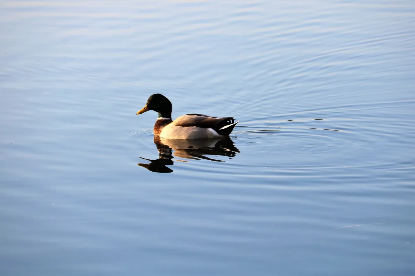
[(212, 128), (221, 135), (229, 135), (238, 122), (233, 117), (211, 117), (203, 114), (186, 114), (172, 122), (176, 127)]

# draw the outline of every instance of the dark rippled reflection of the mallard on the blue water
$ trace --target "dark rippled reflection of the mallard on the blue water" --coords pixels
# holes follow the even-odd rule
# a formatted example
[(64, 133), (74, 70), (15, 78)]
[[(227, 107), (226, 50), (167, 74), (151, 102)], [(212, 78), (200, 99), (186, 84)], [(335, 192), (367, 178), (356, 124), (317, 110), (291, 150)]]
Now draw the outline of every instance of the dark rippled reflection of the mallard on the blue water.
[[(167, 165), (173, 165), (173, 156), (185, 159), (206, 159), (216, 162), (225, 162), (223, 160), (207, 157), (206, 155), (234, 157), (236, 153), (239, 153), (239, 150), (234, 146), (232, 139), (229, 137), (192, 140), (165, 139), (161, 137), (154, 137), (154, 144), (156, 144), (157, 151), (159, 151), (159, 158), (151, 160), (140, 157), (144, 160), (150, 161), (150, 163), (138, 163), (137, 165), (155, 173), (173, 172), (171, 168), (166, 167)], [(187, 162), (177, 159), (176, 161)]]

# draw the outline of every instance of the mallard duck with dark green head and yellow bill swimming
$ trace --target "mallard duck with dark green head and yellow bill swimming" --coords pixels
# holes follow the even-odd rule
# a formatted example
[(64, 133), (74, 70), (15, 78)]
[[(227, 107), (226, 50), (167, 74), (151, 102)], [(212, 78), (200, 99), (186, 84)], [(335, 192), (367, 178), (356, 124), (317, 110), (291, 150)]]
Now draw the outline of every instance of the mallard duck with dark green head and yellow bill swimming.
[(203, 139), (226, 137), (232, 132), (235, 125), (234, 118), (217, 118), (203, 114), (186, 114), (171, 120), (171, 102), (161, 94), (153, 94), (146, 105), (137, 112), (142, 114), (149, 110), (159, 113), (154, 124), (154, 135), (166, 139)]

